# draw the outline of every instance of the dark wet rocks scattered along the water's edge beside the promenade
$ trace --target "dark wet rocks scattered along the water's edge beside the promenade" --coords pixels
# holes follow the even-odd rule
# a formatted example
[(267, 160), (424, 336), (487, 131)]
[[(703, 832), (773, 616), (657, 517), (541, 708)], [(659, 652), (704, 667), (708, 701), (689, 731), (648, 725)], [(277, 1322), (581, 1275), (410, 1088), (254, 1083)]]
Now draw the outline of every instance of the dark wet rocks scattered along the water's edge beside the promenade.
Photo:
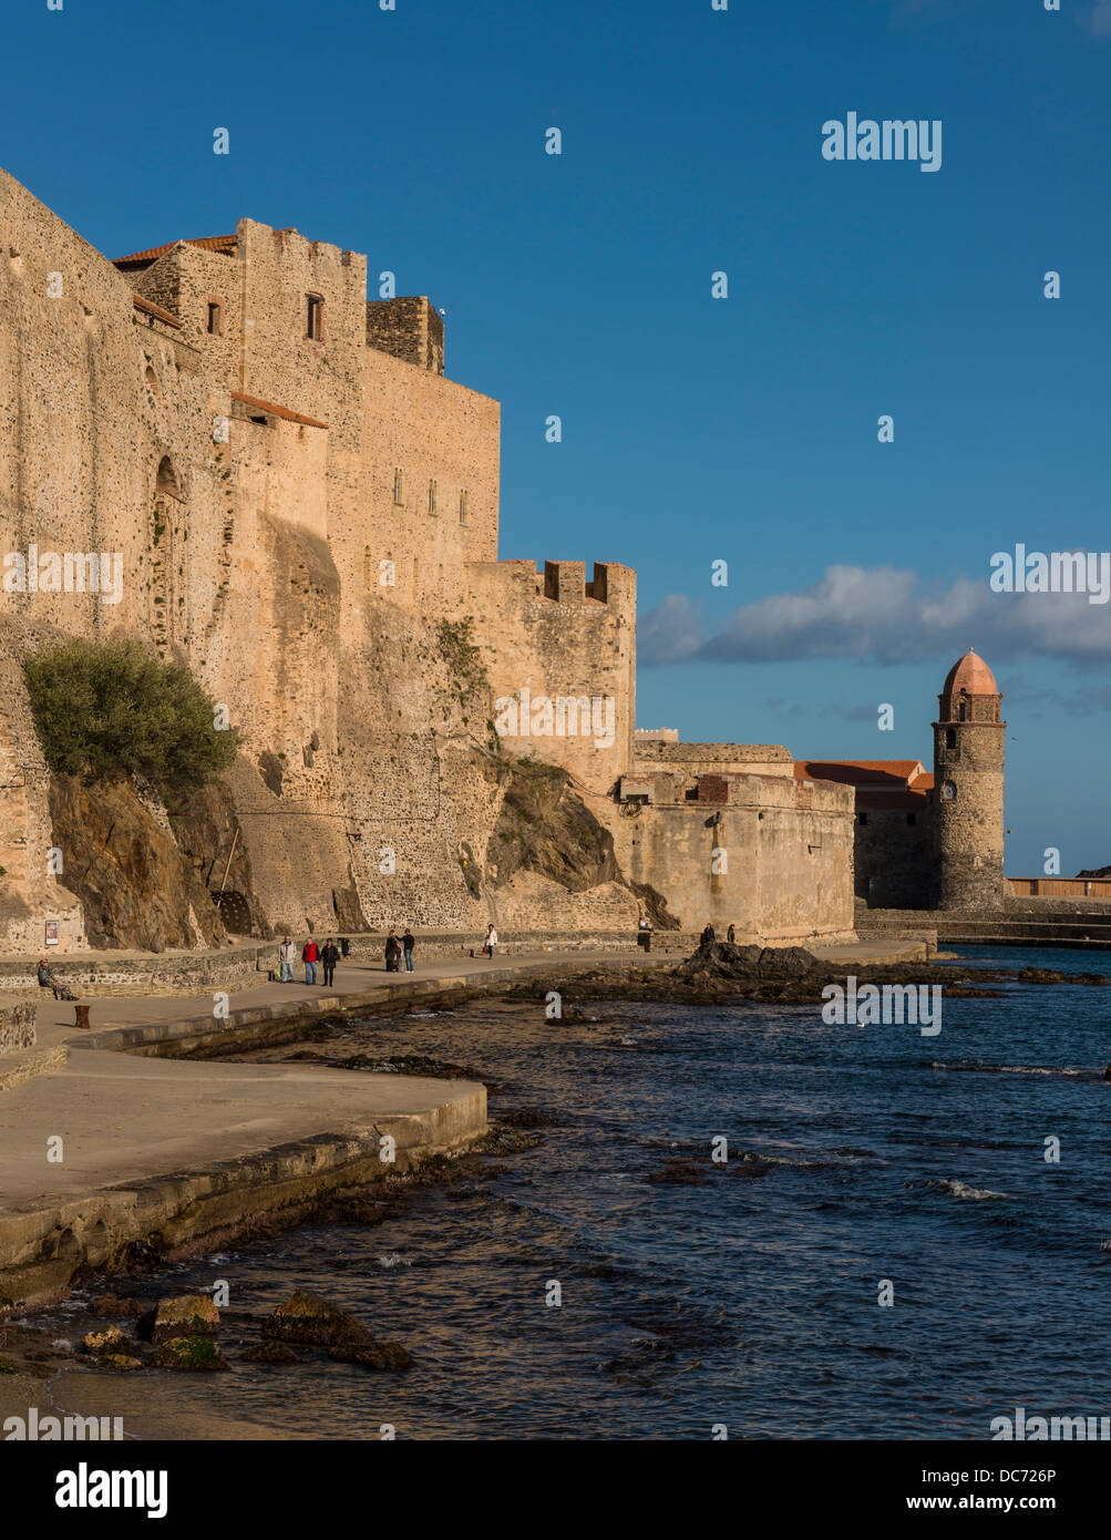
[[(943, 961), (906, 962), (899, 966), (859, 964), (852, 976), (859, 986), (940, 986), (949, 998), (1005, 998), (1016, 986), (1082, 984), (1106, 987), (1108, 978), (1097, 973), (1063, 973), (1049, 969), (1000, 969), (965, 964), (954, 967)], [(800, 949), (737, 947), (729, 942), (712, 942), (700, 947), (674, 969), (646, 970), (636, 964), (620, 970), (568, 969), (560, 981), (562, 1021), (592, 1027), (606, 1021), (589, 1009), (592, 1001), (645, 1001), (674, 1003), (683, 1006), (728, 1006), (732, 1003), (769, 1004), (817, 1004), (823, 989), (831, 983), (843, 984), (846, 969), (817, 958)], [(1000, 987), (1002, 986), (1002, 987)], [(514, 1003), (546, 1001), (551, 995), (551, 979), (522, 979), (517, 984), (500, 981), (497, 986), (477, 987), (463, 992), (463, 998), (479, 1004), (483, 996), (511, 1006)], [(462, 1001), (460, 1001), (462, 1003)], [(357, 1007), (355, 1007), (357, 1009)], [(297, 1043), (272, 1044), (269, 1050), (240, 1047), (231, 1052), (245, 1060), (259, 1061), (266, 1056), (320, 1063), (332, 1069), (352, 1072), (399, 1073), (432, 1078), (480, 1080), (492, 1087), (491, 1076), (466, 1064), (417, 1055), (411, 1052), (366, 1052), (366, 1046), (343, 1043), (343, 1032), (352, 1013), (339, 1012), (328, 1021), (308, 1024), (300, 1046)], [(399, 1013), (403, 1021), (405, 1013)], [(377, 1018), (382, 1023), (382, 1018)], [(337, 1029), (340, 1029), (337, 1032)], [(275, 1235), (309, 1223), (374, 1226), (383, 1220), (397, 1218), (406, 1203), (420, 1187), (452, 1187), (477, 1172), (497, 1175), (506, 1167), (491, 1164), (491, 1157), (523, 1152), (539, 1140), (534, 1132), (556, 1120), (543, 1112), (508, 1113), (500, 1123), (492, 1123), (489, 1132), (475, 1146), (459, 1155), (439, 1155), (414, 1170), (399, 1172), (379, 1181), (332, 1189), (314, 1200), (288, 1209), (263, 1212), (251, 1221), (239, 1224), (234, 1232), (209, 1238), (202, 1250), (212, 1246), (243, 1244)], [(746, 1175), (760, 1175), (759, 1163)], [(649, 1177), (654, 1183), (702, 1184), (706, 1173), (694, 1169), (682, 1153), (672, 1152), (659, 1172)], [(120, 1280), (134, 1272), (157, 1269), (171, 1258), (149, 1247), (134, 1247), (112, 1269), (118, 1289)], [(88, 1287), (102, 1284), (106, 1275), (77, 1277), (74, 1283)], [(403, 1372), (411, 1355), (405, 1343), (377, 1337), (369, 1326), (339, 1311), (326, 1300), (297, 1294), (269, 1314), (234, 1309), (217, 1309), (205, 1295), (180, 1297), (168, 1292), (158, 1298), (125, 1292), (91, 1294), (82, 1317), (74, 1321), (74, 1341), (58, 1338), (37, 1323), (34, 1315), (0, 1323), (0, 1406), (14, 1408), (12, 1394), (28, 1395), (26, 1386), (57, 1380), (66, 1371), (82, 1371), (75, 1378), (66, 1375), (68, 1400), (80, 1400), (80, 1384), (88, 1372), (102, 1375), (135, 1375), (143, 1380), (149, 1371), (177, 1374), (211, 1374), (232, 1371), (237, 1363), (266, 1364), (279, 1371), (282, 1366), (297, 1366), (306, 1361), (331, 1358), (368, 1372)], [(74, 1397), (77, 1386), (77, 1397)], [(8, 1392), (8, 1394), (5, 1394)], [(123, 1395), (126, 1403), (128, 1397)]]

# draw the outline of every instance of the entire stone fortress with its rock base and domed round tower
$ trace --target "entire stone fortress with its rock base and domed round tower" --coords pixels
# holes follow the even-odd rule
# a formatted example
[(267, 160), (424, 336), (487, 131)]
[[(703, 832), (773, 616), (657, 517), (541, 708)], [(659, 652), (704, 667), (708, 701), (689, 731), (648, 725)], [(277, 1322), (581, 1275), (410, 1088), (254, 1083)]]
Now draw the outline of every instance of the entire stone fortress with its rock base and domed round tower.
[[(3, 172), (0, 245), (0, 952), (642, 913), (782, 942), (852, 933), (854, 867), (874, 902), (1002, 892), (979, 659), (937, 788), (636, 733), (636, 573), (497, 559), (499, 405), (445, 376), (428, 299), (366, 299), (366, 257), (245, 219), (112, 262)], [(242, 753), (197, 808), (48, 773), (22, 664), (74, 634), (226, 707)], [(118, 916), (174, 862), (149, 942)]]

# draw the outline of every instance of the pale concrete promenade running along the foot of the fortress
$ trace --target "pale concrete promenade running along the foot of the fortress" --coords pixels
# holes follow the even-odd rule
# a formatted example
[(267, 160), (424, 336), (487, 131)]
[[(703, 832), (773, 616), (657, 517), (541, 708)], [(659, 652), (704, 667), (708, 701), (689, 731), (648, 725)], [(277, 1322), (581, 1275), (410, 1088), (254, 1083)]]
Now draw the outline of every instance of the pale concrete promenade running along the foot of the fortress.
[[(876, 941), (822, 955), (863, 964), (923, 952)], [(226, 1018), (214, 1015), (211, 995), (97, 998), (91, 1032), (74, 1030), (71, 1003), (40, 1001), (38, 1041), (28, 1052), (48, 1063), (0, 1090), (0, 1306), (57, 1298), (75, 1270), (111, 1269), (137, 1241), (166, 1257), (220, 1244), (266, 1210), (308, 1212), (328, 1189), (406, 1170), (486, 1129), (485, 1087), (469, 1081), (158, 1058), (157, 1046), (243, 1029), (266, 1041), (271, 1024), (342, 1007), (403, 1009), (523, 976), (560, 989), (585, 969), (674, 961), (545, 952), (434, 961), (399, 975), (348, 959), (334, 989), (260, 983), (231, 996)], [(383, 1135), (395, 1143), (392, 1164), (380, 1160)]]

